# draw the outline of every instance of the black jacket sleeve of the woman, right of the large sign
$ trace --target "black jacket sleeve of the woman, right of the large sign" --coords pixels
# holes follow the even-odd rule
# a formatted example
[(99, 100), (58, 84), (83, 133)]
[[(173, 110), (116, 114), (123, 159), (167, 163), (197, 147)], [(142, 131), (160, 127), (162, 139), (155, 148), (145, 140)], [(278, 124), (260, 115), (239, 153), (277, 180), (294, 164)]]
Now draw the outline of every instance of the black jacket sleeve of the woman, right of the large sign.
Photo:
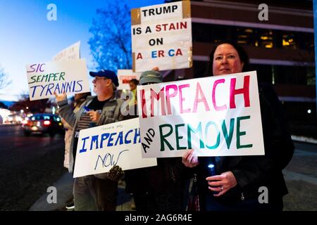
[(282, 105), (271, 86), (259, 86), (265, 155), (244, 156), (232, 173), (240, 188), (278, 179), (292, 159), (294, 145), (282, 113)]

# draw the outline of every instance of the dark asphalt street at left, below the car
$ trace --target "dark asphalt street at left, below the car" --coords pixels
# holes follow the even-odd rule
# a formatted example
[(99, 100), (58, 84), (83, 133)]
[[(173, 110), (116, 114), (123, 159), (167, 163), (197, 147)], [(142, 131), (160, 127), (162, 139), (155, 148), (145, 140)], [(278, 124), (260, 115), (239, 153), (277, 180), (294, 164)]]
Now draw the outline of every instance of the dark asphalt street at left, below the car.
[(0, 142), (0, 210), (29, 210), (66, 172), (63, 136), (26, 137), (20, 125), (5, 125)]

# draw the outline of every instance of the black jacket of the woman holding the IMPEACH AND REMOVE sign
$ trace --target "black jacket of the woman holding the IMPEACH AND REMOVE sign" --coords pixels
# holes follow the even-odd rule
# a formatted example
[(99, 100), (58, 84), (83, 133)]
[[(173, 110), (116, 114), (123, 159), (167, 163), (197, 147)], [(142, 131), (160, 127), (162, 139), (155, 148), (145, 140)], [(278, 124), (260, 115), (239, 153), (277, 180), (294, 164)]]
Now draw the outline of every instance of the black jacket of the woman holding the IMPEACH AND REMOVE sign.
[[(294, 145), (287, 131), (287, 122), (282, 113), (282, 105), (273, 88), (268, 84), (259, 85), (259, 101), (263, 128), (265, 155), (220, 157), (216, 164), (217, 174), (231, 171), (237, 186), (217, 198), (223, 202), (237, 202), (247, 198), (258, 198), (259, 188), (268, 188), (269, 200), (282, 198), (288, 193), (282, 169), (292, 159)], [(214, 158), (213, 158), (214, 159)], [(199, 184), (201, 203), (204, 194), (210, 194), (206, 177), (207, 165), (212, 158), (199, 158)]]

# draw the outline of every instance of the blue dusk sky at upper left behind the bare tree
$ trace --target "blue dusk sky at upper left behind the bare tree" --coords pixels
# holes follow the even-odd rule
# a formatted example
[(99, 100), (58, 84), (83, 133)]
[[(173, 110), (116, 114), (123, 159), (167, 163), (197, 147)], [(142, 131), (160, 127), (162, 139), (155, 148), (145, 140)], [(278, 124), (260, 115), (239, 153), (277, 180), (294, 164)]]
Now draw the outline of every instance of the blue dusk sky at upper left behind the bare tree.
[[(163, 0), (118, 1), (130, 8), (162, 4)], [(56, 4), (57, 21), (49, 21), (46, 7)], [(0, 68), (12, 80), (0, 90), (0, 101), (17, 101), (27, 92), (25, 65), (51, 61), (59, 51), (80, 41), (80, 56), (87, 60), (87, 69), (94, 70), (90, 54), (89, 27), (97, 8), (106, 0), (0, 0)]]

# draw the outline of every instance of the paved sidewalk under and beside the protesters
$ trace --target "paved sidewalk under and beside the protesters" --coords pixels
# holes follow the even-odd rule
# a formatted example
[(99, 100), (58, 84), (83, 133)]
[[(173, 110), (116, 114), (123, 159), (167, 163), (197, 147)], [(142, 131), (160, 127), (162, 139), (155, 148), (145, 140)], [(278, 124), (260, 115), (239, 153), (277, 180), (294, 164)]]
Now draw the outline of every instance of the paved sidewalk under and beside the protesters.
[[(289, 194), (284, 198), (284, 210), (317, 210), (317, 145), (302, 149), (296, 143), (296, 150), (290, 164), (283, 170)], [(45, 193), (30, 208), (30, 211), (66, 210), (66, 203), (73, 197), (73, 177), (68, 172), (54, 185), (57, 189), (57, 203), (47, 203)], [(125, 184), (118, 186), (117, 211), (132, 211), (132, 197), (125, 193)]]

